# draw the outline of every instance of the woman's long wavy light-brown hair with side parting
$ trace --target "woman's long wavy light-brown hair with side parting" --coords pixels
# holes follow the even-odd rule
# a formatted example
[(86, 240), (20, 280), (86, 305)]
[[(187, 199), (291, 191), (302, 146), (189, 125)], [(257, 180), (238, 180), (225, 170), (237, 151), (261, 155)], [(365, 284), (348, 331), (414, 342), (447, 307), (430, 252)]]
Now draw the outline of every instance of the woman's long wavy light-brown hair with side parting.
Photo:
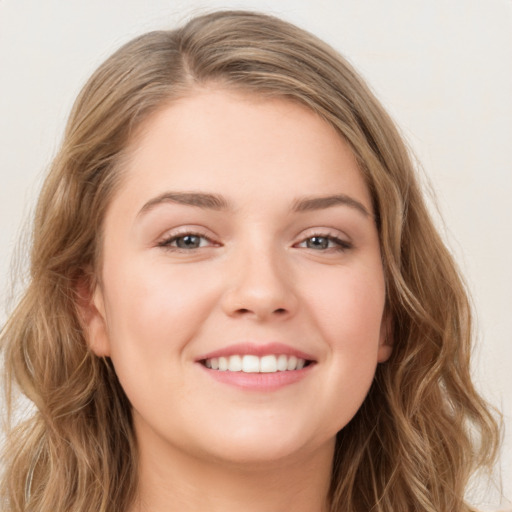
[[(42, 189), (27, 289), (1, 334), (7, 400), (34, 414), (7, 432), (8, 512), (124, 511), (137, 489), (130, 404), (88, 348), (76, 292), (92, 284), (102, 221), (131, 137), (153, 112), (215, 83), (306, 105), (351, 146), (371, 192), (387, 283), (391, 358), (338, 433), (331, 512), (462, 512), (498, 426), (470, 378), (465, 287), (396, 127), (347, 61), (271, 16), (224, 11), (129, 42), (87, 82)], [(92, 271), (91, 271), (92, 269)]]

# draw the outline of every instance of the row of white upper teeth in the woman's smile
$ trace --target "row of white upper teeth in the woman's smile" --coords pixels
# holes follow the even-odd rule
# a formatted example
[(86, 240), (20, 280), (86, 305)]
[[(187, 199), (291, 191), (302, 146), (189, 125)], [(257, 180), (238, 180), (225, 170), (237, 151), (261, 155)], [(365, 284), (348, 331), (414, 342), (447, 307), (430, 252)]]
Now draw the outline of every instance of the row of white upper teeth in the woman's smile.
[(305, 359), (285, 354), (269, 354), (258, 357), (254, 355), (233, 355), (229, 357), (212, 357), (206, 359), (206, 368), (218, 371), (245, 372), (245, 373), (275, 373), (292, 370), (301, 370), (306, 364)]

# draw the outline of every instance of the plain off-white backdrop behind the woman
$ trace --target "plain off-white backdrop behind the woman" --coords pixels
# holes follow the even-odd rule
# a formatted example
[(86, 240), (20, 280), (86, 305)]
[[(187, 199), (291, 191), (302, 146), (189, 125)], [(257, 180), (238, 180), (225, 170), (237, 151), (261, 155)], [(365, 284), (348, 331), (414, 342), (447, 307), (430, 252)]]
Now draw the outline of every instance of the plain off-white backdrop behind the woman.
[[(0, 0), (0, 325), (12, 305), (16, 241), (84, 81), (132, 37), (215, 8), (276, 14), (325, 39), (398, 123), (436, 192), (435, 216), (473, 295), (474, 375), (505, 416), (501, 469), (510, 499), (511, 0)], [(483, 483), (475, 500), (500, 506)]]

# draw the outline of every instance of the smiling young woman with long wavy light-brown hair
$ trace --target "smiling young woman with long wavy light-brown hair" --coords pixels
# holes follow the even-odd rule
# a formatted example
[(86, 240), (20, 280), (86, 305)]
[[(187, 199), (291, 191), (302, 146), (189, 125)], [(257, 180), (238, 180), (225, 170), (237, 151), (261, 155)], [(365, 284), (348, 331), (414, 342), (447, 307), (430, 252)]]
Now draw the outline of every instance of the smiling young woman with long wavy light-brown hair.
[(121, 48), (31, 261), (7, 510), (471, 510), (497, 426), (464, 287), (393, 123), (310, 34), (219, 12)]

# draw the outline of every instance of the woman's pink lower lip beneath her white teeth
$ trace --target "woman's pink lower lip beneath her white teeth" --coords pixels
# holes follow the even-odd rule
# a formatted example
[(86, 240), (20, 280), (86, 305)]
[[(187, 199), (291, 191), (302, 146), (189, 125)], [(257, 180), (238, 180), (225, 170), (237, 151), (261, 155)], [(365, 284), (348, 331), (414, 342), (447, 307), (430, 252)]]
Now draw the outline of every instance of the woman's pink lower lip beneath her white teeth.
[(300, 370), (287, 370), (272, 373), (246, 373), (211, 370), (202, 364), (199, 366), (213, 379), (248, 391), (277, 391), (301, 381), (311, 372), (314, 364)]

